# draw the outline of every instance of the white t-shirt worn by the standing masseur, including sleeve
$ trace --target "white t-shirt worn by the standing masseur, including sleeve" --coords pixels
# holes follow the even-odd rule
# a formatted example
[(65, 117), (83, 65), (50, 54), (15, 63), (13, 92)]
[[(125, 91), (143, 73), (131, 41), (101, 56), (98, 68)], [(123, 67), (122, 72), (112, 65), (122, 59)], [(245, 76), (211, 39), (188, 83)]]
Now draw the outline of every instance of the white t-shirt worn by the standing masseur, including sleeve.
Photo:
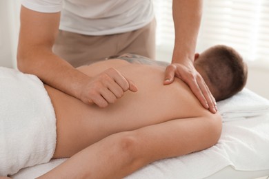
[(129, 32), (154, 18), (152, 0), (21, 0), (37, 12), (61, 11), (60, 30), (86, 35)]

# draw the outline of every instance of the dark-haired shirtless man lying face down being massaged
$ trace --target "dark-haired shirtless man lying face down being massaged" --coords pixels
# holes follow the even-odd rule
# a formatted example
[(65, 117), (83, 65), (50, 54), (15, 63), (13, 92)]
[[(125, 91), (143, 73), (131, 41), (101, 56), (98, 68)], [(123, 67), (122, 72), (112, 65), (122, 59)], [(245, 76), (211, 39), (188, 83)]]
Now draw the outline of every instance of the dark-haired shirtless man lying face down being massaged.
[[(123, 178), (155, 160), (215, 145), (220, 115), (204, 109), (180, 79), (163, 85), (166, 65), (123, 54), (79, 67), (88, 76), (117, 70), (137, 85), (137, 92), (126, 92), (105, 108), (45, 85), (57, 118), (53, 158), (70, 158), (40, 178)], [(195, 67), (217, 101), (246, 84), (246, 63), (230, 47), (217, 45), (196, 54)]]

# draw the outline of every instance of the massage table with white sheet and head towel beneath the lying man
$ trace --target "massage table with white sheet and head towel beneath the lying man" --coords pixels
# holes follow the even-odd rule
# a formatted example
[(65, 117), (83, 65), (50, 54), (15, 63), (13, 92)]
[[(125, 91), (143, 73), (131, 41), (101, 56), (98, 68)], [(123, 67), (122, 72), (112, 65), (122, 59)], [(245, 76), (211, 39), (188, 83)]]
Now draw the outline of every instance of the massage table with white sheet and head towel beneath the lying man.
[[(152, 162), (126, 179), (253, 179), (269, 176), (269, 101), (249, 89), (217, 103), (223, 120), (219, 142), (203, 151)], [(21, 169), (12, 178), (36, 178), (66, 159)]]

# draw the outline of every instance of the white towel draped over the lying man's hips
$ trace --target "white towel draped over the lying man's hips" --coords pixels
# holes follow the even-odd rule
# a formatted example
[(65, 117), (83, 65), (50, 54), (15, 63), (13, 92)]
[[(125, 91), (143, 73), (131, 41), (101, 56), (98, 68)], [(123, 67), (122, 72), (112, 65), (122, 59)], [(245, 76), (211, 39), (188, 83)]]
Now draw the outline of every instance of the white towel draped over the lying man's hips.
[(0, 67), (0, 176), (48, 162), (55, 145), (56, 118), (43, 83)]

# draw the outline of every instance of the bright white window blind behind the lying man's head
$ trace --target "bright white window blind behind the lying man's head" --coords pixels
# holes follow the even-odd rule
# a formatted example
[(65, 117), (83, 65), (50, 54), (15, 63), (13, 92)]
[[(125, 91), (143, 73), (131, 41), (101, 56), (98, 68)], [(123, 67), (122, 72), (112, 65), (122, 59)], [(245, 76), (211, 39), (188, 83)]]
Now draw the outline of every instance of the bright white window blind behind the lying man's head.
[[(157, 50), (172, 53), (175, 39), (172, 0), (154, 0)], [(212, 45), (235, 48), (247, 61), (269, 56), (269, 1), (204, 0), (197, 52)]]

